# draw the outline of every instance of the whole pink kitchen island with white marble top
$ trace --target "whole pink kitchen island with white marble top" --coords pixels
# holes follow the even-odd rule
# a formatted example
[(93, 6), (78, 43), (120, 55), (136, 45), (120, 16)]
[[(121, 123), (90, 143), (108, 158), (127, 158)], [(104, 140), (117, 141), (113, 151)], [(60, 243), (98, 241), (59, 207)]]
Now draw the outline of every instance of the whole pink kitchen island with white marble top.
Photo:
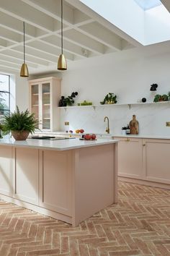
[(0, 199), (77, 226), (117, 202), (117, 140), (0, 140)]

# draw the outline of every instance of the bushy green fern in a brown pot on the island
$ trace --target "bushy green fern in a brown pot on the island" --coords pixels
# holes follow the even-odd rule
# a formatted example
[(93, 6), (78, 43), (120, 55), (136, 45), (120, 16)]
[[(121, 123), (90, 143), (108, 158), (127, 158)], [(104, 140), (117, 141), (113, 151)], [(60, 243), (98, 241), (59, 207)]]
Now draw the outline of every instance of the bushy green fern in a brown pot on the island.
[(30, 114), (28, 110), (17, 111), (12, 114), (6, 114), (1, 121), (2, 132), (4, 135), (12, 132), (15, 140), (26, 140), (28, 135), (38, 129), (38, 122), (35, 119), (35, 114)]

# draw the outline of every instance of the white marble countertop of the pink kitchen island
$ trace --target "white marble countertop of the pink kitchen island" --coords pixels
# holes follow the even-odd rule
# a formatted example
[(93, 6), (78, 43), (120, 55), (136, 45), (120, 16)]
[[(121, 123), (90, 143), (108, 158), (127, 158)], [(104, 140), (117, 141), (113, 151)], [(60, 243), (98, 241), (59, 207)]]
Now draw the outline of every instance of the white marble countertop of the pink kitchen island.
[(40, 148), (47, 150), (73, 150), (76, 148), (87, 148), (98, 145), (107, 145), (117, 143), (118, 140), (79, 140), (79, 138), (67, 140), (14, 140), (14, 139), (0, 139), (0, 145), (12, 145), (14, 147), (23, 148)]

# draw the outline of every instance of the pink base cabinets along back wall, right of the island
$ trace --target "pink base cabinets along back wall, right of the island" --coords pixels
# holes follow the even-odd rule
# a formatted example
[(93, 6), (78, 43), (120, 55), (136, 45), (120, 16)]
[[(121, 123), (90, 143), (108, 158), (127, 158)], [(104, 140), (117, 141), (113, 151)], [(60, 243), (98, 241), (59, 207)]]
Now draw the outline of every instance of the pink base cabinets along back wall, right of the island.
[(170, 140), (115, 137), (121, 180), (170, 189)]

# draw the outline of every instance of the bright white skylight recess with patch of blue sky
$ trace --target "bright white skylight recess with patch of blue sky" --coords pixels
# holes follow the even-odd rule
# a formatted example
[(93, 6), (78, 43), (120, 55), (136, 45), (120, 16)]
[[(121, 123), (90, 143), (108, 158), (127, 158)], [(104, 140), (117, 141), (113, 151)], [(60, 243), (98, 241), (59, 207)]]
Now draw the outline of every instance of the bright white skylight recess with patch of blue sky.
[(144, 46), (170, 40), (170, 14), (159, 0), (80, 1)]

